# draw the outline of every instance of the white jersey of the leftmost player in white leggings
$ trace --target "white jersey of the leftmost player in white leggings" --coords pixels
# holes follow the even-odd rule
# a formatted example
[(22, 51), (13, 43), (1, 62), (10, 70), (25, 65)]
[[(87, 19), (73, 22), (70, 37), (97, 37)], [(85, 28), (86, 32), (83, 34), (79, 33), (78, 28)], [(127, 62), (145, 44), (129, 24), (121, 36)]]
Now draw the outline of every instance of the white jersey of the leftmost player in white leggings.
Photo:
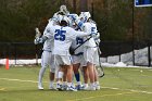
[(50, 21), (47, 25), (43, 36), (46, 36), (48, 39), (43, 43), (43, 51), (52, 51), (53, 50), (53, 37), (52, 34), (50, 34), (49, 29), (54, 26), (54, 21)]

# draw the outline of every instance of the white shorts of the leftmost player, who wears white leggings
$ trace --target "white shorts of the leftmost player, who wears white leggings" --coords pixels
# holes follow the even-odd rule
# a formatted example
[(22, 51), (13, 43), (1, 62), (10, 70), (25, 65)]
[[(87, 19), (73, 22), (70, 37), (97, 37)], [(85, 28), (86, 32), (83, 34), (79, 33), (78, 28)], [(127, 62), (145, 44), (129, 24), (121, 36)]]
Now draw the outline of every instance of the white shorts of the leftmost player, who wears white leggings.
[(52, 73), (55, 72), (54, 58), (52, 55), (52, 52), (49, 52), (49, 51), (43, 51), (42, 52), (42, 55), (41, 55), (41, 66), (42, 67), (50, 66), (50, 71)]

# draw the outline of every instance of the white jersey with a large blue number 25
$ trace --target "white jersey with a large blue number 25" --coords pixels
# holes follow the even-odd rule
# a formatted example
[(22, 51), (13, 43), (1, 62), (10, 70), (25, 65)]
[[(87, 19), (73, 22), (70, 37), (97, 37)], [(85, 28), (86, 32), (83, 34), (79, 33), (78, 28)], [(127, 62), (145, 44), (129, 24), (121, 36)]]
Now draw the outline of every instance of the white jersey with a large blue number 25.
[(69, 47), (76, 37), (88, 36), (89, 34), (76, 31), (71, 27), (53, 26), (51, 33), (54, 37), (53, 54), (69, 55)]

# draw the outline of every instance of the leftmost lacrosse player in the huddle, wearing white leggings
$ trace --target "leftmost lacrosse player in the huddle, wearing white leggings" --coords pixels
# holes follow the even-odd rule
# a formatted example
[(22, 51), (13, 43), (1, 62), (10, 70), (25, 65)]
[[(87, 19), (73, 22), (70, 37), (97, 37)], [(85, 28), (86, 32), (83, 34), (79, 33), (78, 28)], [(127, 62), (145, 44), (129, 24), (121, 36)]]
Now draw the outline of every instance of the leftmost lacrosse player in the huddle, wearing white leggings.
[(38, 28), (36, 28), (37, 37), (35, 39), (35, 45), (37, 43), (43, 43), (43, 52), (41, 55), (41, 68), (39, 71), (38, 76), (38, 89), (43, 90), (42, 87), (42, 77), (45, 74), (45, 71), (48, 66), (50, 66), (50, 86), (49, 89), (54, 89), (53, 87), (53, 80), (54, 80), (54, 72), (55, 72), (55, 65), (54, 65), (54, 58), (52, 55), (52, 49), (53, 49), (53, 38), (50, 33), (48, 33), (48, 27), (54, 26), (58, 24), (58, 15), (54, 14), (51, 20), (49, 20), (49, 24), (47, 25), (42, 37), (40, 37), (40, 31)]

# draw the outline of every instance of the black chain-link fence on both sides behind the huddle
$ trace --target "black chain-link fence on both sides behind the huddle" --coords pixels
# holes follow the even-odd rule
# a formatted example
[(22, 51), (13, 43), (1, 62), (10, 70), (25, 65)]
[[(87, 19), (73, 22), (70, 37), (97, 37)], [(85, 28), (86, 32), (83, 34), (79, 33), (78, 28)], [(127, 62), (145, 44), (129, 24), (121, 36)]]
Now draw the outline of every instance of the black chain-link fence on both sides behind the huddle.
[[(152, 42), (122, 42), (122, 41), (102, 41), (100, 49), (102, 51), (101, 58), (112, 55), (119, 55), (118, 62), (122, 61), (122, 54), (131, 53), (131, 61), (134, 65), (142, 65), (138, 63), (135, 58), (142, 51), (136, 51), (143, 48), (145, 49), (147, 66), (151, 66), (152, 60)], [(40, 59), (42, 52), (42, 45), (35, 46), (33, 42), (0, 42), (0, 59)], [(141, 53), (142, 54), (142, 53)]]

